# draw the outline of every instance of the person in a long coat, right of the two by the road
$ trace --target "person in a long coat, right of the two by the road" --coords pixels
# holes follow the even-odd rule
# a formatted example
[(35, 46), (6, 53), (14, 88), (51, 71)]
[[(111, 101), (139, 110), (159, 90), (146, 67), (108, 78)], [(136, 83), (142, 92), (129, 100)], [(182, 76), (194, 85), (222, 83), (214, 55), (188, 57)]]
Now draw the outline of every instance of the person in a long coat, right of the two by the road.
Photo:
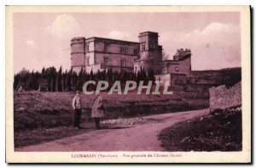
[(91, 109), (91, 117), (94, 118), (96, 129), (99, 130), (100, 128), (100, 118), (104, 116), (103, 112), (103, 98), (101, 95), (97, 95), (94, 99), (94, 103)]

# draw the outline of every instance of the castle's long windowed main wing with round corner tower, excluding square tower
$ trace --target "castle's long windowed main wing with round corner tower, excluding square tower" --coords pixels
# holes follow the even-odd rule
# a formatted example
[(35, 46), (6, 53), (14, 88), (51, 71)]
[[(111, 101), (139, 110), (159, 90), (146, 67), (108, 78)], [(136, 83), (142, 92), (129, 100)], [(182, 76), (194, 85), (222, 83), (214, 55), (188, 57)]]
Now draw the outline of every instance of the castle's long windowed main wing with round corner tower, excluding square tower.
[(139, 57), (139, 43), (100, 37), (73, 38), (71, 42), (71, 67), (79, 73), (98, 70), (133, 71), (134, 60)]

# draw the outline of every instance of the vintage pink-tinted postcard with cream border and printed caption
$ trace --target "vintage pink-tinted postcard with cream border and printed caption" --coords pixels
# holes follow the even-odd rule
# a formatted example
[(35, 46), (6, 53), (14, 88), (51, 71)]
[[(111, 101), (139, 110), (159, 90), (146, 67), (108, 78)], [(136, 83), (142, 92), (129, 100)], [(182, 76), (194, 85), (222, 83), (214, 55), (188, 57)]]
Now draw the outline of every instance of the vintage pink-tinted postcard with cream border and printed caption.
[(7, 6), (8, 163), (250, 163), (249, 6)]

